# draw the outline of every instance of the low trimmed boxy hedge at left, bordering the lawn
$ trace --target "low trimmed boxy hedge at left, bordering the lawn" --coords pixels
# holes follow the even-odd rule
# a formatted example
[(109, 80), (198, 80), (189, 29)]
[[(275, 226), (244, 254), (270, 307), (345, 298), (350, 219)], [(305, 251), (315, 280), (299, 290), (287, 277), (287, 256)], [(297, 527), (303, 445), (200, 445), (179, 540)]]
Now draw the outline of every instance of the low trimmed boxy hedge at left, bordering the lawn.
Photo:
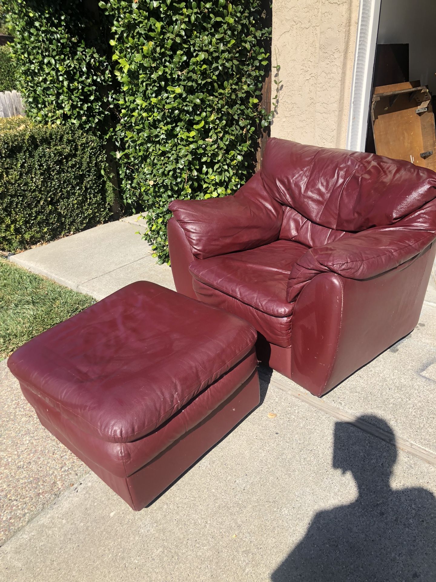
[(0, 119), (0, 249), (26, 249), (107, 219), (105, 164), (99, 140), (73, 126)]

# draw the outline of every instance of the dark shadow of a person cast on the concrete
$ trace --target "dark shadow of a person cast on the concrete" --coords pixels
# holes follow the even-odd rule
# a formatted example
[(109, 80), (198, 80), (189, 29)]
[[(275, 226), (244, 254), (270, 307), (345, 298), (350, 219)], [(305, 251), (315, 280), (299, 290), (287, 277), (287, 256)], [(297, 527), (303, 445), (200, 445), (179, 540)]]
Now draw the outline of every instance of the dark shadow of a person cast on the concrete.
[[(393, 434), (385, 421), (360, 420)], [(336, 423), (333, 467), (351, 471), (359, 495), (317, 513), (273, 582), (436, 580), (436, 499), (427, 489), (392, 489), (396, 448), (350, 423)]]

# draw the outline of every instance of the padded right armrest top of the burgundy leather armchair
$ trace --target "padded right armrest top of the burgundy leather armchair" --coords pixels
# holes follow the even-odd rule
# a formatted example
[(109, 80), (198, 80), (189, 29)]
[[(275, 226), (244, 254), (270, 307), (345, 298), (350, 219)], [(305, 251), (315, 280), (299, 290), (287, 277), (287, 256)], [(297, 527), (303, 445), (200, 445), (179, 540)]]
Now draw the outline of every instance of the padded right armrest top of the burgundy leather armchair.
[(288, 281), (288, 301), (295, 301), (319, 273), (333, 272), (362, 281), (395, 269), (419, 255), (435, 239), (435, 232), (413, 226), (363, 230), (334, 243), (309, 249), (295, 263)]

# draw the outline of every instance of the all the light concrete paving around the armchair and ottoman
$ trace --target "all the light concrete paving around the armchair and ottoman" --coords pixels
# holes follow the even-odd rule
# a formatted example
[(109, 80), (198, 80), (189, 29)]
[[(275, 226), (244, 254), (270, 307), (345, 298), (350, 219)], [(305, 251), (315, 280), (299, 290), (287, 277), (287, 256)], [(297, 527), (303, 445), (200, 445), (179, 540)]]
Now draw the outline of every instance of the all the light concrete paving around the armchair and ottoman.
[[(109, 223), (13, 260), (97, 299), (138, 279), (173, 288), (170, 269), (155, 264), (135, 230)], [(277, 372), (265, 379), (263, 371), (263, 404), (139, 513), (38, 425), (17, 396), (15, 379), (5, 366), (0, 371), (10, 398), (18, 399), (10, 406), (18, 410), (15, 416), (6, 412), (3, 419), (10, 430), (4, 456), (15, 499), (8, 506), (15, 523), (10, 533), (17, 533), (1, 550), (0, 580), (345, 582), (340, 566), (351, 562), (363, 568), (359, 580), (436, 579), (430, 564), (436, 556), (428, 548), (428, 540), (433, 546), (436, 540), (436, 467), (413, 454), (417, 445), (436, 459), (431, 287), (414, 332), (316, 399), (325, 410), (314, 400), (302, 402), (305, 391)], [(280, 389), (287, 386), (294, 396)], [(339, 430), (333, 409), (339, 417), (372, 415), (374, 427), (411, 443), (412, 454), (353, 427)], [(383, 489), (392, 464), (391, 486)], [(62, 468), (65, 479), (58, 476)], [(342, 474), (349, 469), (359, 480), (356, 503), (356, 483)], [(70, 475), (77, 477), (74, 487)], [(390, 558), (377, 553), (383, 539), (389, 540)], [(376, 575), (365, 570), (371, 563)], [(412, 572), (416, 563), (427, 570)]]

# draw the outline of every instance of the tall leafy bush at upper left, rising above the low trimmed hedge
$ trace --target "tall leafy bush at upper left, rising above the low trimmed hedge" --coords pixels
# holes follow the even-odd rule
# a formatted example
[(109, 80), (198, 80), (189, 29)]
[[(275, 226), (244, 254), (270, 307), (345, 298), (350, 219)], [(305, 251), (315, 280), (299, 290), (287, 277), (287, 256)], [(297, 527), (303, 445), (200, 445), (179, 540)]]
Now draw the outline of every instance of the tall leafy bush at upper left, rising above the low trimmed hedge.
[(108, 133), (112, 77), (104, 19), (96, 23), (83, 0), (2, 2), (26, 115)]

